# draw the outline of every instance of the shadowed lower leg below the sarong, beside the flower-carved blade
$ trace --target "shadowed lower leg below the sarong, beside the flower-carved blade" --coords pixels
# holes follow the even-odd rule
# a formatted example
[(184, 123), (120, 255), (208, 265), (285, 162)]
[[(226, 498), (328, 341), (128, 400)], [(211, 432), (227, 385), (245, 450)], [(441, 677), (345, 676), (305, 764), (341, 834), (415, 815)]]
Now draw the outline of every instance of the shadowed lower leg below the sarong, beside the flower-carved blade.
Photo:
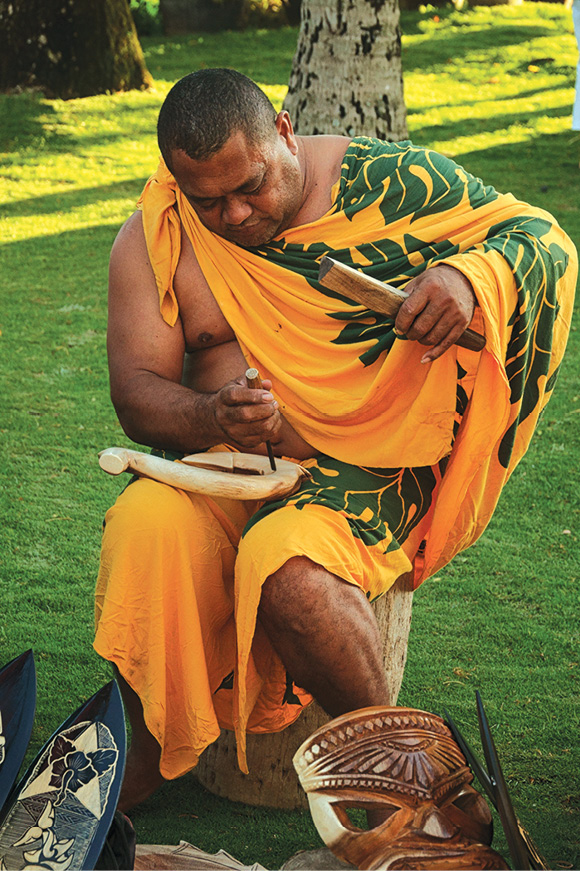
[(149, 798), (161, 786), (164, 778), (159, 772), (161, 747), (145, 725), (141, 699), (121, 677), (117, 668), (115, 675), (131, 724), (131, 744), (127, 751), (118, 804), (119, 810), (126, 812)]

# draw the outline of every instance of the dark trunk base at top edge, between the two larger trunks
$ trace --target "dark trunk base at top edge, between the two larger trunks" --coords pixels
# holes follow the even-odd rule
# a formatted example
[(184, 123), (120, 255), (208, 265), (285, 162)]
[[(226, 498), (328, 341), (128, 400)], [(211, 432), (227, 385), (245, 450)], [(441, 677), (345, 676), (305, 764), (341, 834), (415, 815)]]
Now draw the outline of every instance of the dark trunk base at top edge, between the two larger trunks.
[(159, 0), (163, 33), (217, 33), (240, 26), (244, 0)]

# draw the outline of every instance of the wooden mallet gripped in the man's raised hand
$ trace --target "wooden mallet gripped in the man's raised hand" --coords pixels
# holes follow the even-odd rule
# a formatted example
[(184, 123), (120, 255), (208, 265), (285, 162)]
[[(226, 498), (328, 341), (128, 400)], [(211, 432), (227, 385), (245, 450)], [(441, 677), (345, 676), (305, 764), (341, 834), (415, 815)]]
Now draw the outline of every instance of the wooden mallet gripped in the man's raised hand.
[[(323, 257), (320, 261), (318, 281), (323, 287), (342, 293), (343, 296), (360, 302), (371, 311), (393, 318), (396, 317), (402, 303), (409, 296), (404, 290), (392, 287), (392, 285), (378, 281), (376, 278), (371, 278), (370, 275), (358, 272), (351, 266), (333, 260), (332, 257)], [(455, 344), (467, 348), (469, 351), (483, 351), (485, 336), (467, 329)]]

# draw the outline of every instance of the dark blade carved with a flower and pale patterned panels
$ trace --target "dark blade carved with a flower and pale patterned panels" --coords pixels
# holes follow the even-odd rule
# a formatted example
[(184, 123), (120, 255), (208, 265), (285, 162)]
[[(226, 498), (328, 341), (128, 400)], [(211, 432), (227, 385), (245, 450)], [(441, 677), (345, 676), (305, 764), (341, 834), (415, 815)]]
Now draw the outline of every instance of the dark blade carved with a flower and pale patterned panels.
[(57, 729), (12, 793), (0, 825), (0, 868), (94, 868), (125, 751), (123, 705), (111, 681)]

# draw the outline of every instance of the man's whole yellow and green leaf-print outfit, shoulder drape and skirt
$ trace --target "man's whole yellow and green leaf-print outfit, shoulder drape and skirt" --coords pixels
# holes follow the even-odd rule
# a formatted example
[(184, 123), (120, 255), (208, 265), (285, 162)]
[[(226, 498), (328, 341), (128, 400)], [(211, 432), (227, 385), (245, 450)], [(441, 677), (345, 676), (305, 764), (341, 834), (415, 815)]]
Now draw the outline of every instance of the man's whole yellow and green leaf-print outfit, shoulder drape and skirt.
[[(218, 639), (210, 642), (211, 651), (204, 650), (207, 641), (198, 641), (203, 620), (191, 617), (191, 596), (187, 607), (180, 604), (179, 579), (199, 572), (187, 548), (174, 545), (177, 564), (171, 569), (153, 566), (156, 577), (165, 575), (163, 590), (148, 582), (143, 589), (140, 576), (140, 597), (128, 602), (119, 592), (121, 537), (113, 531), (107, 540), (106, 533), (95, 646), (119, 665), (144, 701), (146, 721), (163, 749), (162, 773), (171, 777), (195, 764), (219, 724), (231, 720), (236, 728), (244, 766), (247, 727), (275, 730), (296, 715), (280, 706), (287, 679), (259, 626), (256, 630), (261, 585), (292, 555), (306, 553), (372, 598), (411, 567), (418, 585), (481, 534), (553, 389), (570, 324), (577, 257), (547, 213), (498, 194), (426, 149), (362, 137), (345, 155), (328, 213), (259, 248), (239, 248), (206, 230), (163, 163), (141, 205), (164, 320), (173, 325), (178, 316), (173, 276), (183, 222), (248, 365), (272, 380), (283, 414), (326, 458), (318, 464), (321, 475), (333, 461), (342, 465), (327, 477), (336, 473), (339, 481), (348, 479), (349, 466), (394, 479), (404, 469), (430, 469), (433, 475), (432, 486), (419, 487), (415, 501), (402, 499), (401, 518), (388, 521), (381, 515), (380, 488), (376, 511), (353, 509), (346, 497), (337, 509), (324, 494), (301, 491), (276, 510), (254, 515), (256, 506), (249, 506), (234, 521), (229, 507), (222, 506), (220, 514), (206, 501), (204, 524), (208, 530), (219, 525), (216, 535), (222, 537), (206, 561), (213, 566), (208, 574), (222, 577), (224, 609), (217, 622), (210, 615), (204, 624)], [(424, 349), (397, 340), (391, 319), (318, 284), (318, 263), (326, 254), (400, 287), (429, 266), (456, 267), (474, 287), (479, 305), (472, 327), (485, 330), (486, 349), (476, 354), (455, 346), (434, 363), (420, 365)], [(121, 499), (136, 498), (129, 493), (137, 487), (143, 492), (143, 484), (131, 485)], [(348, 482), (341, 487), (350, 492)], [(172, 509), (171, 517), (181, 516), (184, 505)], [(111, 509), (107, 529), (116, 511), (117, 506)], [(153, 515), (162, 522), (161, 511)], [(393, 536), (392, 523), (400, 537)], [(189, 528), (197, 529), (195, 524)], [(181, 532), (186, 536), (185, 526)], [(323, 540), (325, 532), (332, 533), (330, 543)], [(134, 574), (138, 548), (136, 543), (125, 548), (126, 576)], [(232, 586), (224, 578), (231, 575), (236, 548)], [(151, 615), (152, 600), (163, 609), (162, 621)], [(186, 625), (175, 629), (183, 620)], [(192, 623), (196, 640), (190, 642)], [(166, 664), (168, 653), (177, 656), (177, 648), (190, 644), (195, 665), (176, 677), (176, 666)], [(200, 651), (207, 667), (200, 664)], [(212, 657), (220, 661), (217, 670)], [(226, 687), (213, 684), (230, 665), (234, 694), (220, 707)], [(184, 693), (193, 700), (181, 729), (169, 712)], [(285, 695), (301, 698), (291, 688)], [(170, 734), (175, 730), (178, 738)]]

